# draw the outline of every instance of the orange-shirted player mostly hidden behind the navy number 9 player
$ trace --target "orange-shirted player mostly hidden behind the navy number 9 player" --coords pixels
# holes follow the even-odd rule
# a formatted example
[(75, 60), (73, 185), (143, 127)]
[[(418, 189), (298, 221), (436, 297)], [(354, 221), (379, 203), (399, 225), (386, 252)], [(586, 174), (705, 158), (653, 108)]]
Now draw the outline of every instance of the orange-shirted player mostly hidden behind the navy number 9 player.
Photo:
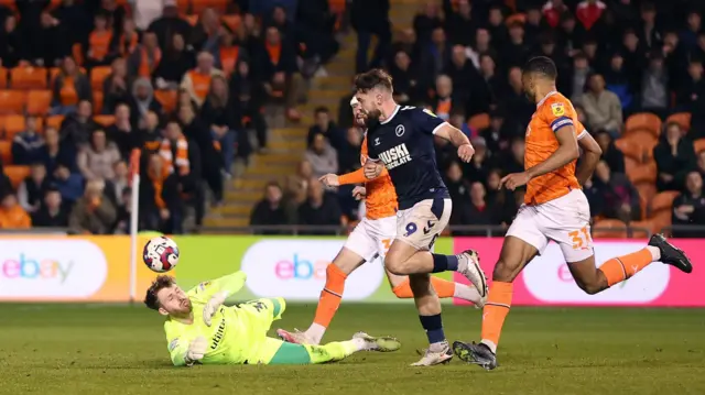
[[(365, 125), (360, 114), (360, 106), (354, 97), (350, 100), (355, 122), (359, 127)], [(362, 165), (367, 161), (367, 135), (360, 147), (360, 161)], [(327, 186), (350, 184), (365, 184), (365, 187), (356, 187), (354, 195), (365, 198), (367, 209), (366, 217), (348, 237), (345, 246), (326, 268), (326, 285), (321, 292), (316, 315), (311, 327), (304, 331), (290, 332), (279, 329), (276, 333), (282, 340), (292, 343), (319, 344), (326, 328), (333, 320), (345, 287), (345, 279), (352, 271), (365, 262), (371, 262), (380, 256), (382, 260), (389, 246), (397, 235), (397, 193), (387, 171), (372, 180), (367, 179), (364, 169), (337, 176), (327, 174), (321, 177)], [(409, 276), (399, 276), (387, 272), (392, 292), (399, 298), (413, 298), (409, 285)], [(453, 283), (438, 277), (431, 277), (431, 283), (442, 298), (457, 297), (474, 303), (478, 307), (484, 306), (484, 298), (474, 287), (465, 284)]]

